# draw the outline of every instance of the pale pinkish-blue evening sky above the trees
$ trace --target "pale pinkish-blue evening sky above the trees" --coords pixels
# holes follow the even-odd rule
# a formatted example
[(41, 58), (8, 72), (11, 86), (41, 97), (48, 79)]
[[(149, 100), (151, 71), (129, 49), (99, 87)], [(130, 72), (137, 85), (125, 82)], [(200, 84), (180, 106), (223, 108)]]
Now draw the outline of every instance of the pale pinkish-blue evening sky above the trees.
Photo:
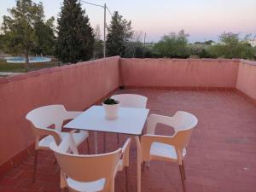
[[(157, 42), (164, 34), (184, 29), (189, 33), (189, 42), (214, 40), (222, 32), (256, 34), (256, 0), (87, 0), (104, 4), (108, 9), (119, 11), (126, 20), (131, 20), (137, 32), (146, 32), (146, 42)], [(55, 19), (61, 11), (62, 0), (34, 0), (44, 4), (46, 18)], [(82, 3), (82, 2), (81, 2)], [(90, 25), (100, 26), (103, 32), (103, 9), (82, 3)], [(15, 0), (0, 1), (0, 22), (8, 15), (8, 8)], [(107, 24), (111, 15), (107, 13)]]

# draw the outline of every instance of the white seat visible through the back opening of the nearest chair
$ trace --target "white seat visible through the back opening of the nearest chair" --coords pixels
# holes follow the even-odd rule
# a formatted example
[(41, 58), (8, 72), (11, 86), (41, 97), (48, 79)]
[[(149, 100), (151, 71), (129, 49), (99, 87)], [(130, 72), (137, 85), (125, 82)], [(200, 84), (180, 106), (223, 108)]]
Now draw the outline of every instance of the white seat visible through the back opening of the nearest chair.
[(96, 192), (96, 191), (102, 191), (105, 185), (105, 178), (96, 180), (94, 182), (78, 182), (76, 180), (73, 180), (72, 178), (67, 178), (67, 185), (76, 190), (81, 192)]

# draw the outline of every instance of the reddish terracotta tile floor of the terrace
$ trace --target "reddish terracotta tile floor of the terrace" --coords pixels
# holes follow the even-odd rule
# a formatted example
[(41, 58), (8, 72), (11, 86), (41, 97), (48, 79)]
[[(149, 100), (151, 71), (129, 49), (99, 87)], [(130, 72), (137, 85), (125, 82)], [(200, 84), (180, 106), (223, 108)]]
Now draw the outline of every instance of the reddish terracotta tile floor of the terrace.
[[(119, 90), (148, 96), (150, 113), (173, 115), (177, 110), (194, 113), (195, 129), (185, 161), (187, 192), (256, 191), (256, 107), (235, 92), (178, 90)], [(172, 134), (166, 126), (159, 133)], [(108, 134), (108, 151), (114, 150), (116, 135)], [(102, 151), (102, 135), (99, 136)], [(125, 136), (121, 137), (122, 143)], [(90, 147), (93, 148), (93, 137)], [(121, 144), (119, 144), (121, 146)], [(86, 144), (79, 148), (87, 153)], [(136, 191), (136, 146), (131, 146), (130, 192)], [(59, 167), (54, 155), (38, 155), (36, 183), (32, 183), (33, 158), (10, 171), (0, 180), (0, 191), (60, 191)], [(85, 172), (85, 170), (84, 170)], [(151, 162), (142, 173), (143, 192), (182, 191), (178, 166)], [(124, 172), (116, 177), (115, 191), (125, 191)]]

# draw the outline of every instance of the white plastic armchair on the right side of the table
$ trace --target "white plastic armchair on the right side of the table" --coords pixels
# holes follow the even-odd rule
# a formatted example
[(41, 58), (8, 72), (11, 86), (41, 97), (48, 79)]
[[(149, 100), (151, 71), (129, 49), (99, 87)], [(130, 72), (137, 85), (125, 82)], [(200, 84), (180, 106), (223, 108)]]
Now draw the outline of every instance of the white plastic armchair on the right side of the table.
[[(195, 115), (183, 111), (177, 111), (173, 117), (151, 114), (147, 120), (147, 134), (143, 135), (141, 142), (143, 162), (166, 160), (179, 165), (183, 192), (185, 192), (184, 180), (186, 179), (183, 158), (197, 121)], [(155, 135), (155, 127), (158, 123), (174, 128), (174, 135)]]

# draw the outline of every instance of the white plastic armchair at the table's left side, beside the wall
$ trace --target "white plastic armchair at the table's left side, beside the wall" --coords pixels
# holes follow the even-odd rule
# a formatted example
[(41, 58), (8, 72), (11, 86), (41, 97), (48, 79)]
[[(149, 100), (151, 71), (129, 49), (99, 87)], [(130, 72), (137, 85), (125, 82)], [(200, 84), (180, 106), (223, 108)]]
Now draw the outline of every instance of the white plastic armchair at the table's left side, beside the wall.
[[(52, 142), (61, 143), (68, 136), (68, 132), (61, 132), (62, 124), (65, 119), (73, 119), (81, 112), (67, 111), (62, 105), (49, 105), (41, 108), (36, 108), (26, 114), (26, 119), (31, 122), (32, 131), (36, 137), (35, 143), (35, 158), (34, 172), (32, 182), (35, 182), (38, 150), (49, 150), (49, 144)], [(49, 129), (49, 126), (54, 125), (54, 129)], [(88, 131), (79, 131), (74, 133), (74, 141), (76, 146), (83, 143), (89, 136)], [(87, 139), (89, 149), (89, 141)], [(89, 149), (90, 151), (90, 149)]]

